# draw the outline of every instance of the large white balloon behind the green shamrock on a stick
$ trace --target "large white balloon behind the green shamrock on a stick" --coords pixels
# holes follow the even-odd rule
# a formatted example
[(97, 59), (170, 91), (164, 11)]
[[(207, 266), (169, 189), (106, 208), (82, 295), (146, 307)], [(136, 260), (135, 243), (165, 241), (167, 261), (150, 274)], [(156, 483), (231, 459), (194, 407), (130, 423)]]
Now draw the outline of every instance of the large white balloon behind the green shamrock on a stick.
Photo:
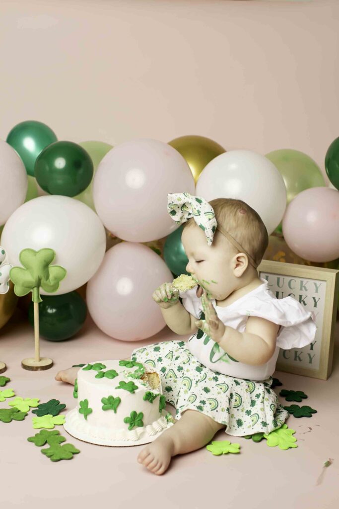
[[(51, 265), (61, 265), (66, 277), (53, 295), (72, 292), (98, 270), (106, 249), (106, 234), (98, 215), (84, 203), (58, 194), (39, 196), (16, 209), (7, 220), (1, 245), (8, 261), (22, 267), (19, 254), (27, 247), (54, 249)], [(40, 289), (41, 295), (52, 295)]]

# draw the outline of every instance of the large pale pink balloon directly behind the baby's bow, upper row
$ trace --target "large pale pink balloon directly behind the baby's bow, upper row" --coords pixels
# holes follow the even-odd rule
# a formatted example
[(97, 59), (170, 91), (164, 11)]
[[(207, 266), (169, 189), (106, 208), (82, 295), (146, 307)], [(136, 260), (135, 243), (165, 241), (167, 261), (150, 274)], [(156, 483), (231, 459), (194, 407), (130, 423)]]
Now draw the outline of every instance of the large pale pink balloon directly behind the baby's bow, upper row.
[(107, 230), (120, 239), (149, 242), (174, 232), (167, 194), (194, 194), (191, 169), (181, 154), (156, 139), (135, 139), (110, 150), (99, 163), (93, 200)]

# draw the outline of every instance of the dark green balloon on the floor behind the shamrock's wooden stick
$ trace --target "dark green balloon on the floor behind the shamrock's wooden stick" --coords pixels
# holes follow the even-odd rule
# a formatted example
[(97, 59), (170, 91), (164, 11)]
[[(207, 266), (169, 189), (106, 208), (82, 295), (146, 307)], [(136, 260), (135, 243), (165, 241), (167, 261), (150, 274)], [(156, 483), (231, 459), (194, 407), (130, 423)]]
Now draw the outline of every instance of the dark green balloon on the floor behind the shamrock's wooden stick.
[[(87, 306), (78, 292), (42, 295), (39, 302), (40, 336), (49, 341), (69, 340), (83, 326)], [(34, 303), (28, 307), (28, 320), (34, 327)]]

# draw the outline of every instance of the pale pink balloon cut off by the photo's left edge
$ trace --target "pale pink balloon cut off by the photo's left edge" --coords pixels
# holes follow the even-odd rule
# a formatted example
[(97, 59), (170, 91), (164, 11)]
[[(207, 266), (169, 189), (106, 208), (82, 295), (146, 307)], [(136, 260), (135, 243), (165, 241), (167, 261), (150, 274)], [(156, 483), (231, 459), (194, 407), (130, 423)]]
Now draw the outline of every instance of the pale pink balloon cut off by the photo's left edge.
[(28, 187), (26, 168), (21, 157), (0, 139), (0, 224), (25, 201)]

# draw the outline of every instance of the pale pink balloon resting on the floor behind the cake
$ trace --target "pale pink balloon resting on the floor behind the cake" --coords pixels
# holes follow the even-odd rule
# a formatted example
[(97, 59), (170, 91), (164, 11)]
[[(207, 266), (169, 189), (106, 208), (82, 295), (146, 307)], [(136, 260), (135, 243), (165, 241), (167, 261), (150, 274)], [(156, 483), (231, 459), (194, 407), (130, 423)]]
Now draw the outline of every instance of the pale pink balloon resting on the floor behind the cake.
[(172, 280), (159, 254), (143, 244), (120, 242), (108, 249), (87, 283), (88, 312), (109, 336), (122, 341), (144, 340), (166, 325), (152, 293)]

